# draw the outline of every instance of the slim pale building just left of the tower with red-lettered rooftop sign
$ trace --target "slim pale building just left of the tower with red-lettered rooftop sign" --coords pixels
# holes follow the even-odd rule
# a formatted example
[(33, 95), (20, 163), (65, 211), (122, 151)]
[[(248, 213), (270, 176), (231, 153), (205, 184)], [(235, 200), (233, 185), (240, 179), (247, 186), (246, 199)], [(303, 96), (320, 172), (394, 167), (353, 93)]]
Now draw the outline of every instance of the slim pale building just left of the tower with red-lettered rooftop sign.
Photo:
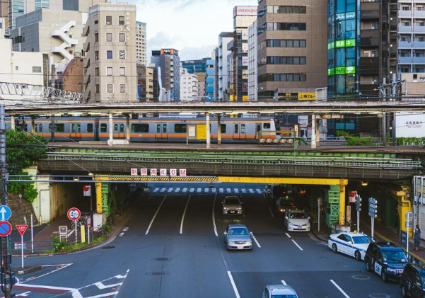
[(228, 86), (228, 63), (227, 56), (230, 54), (228, 43), (233, 41), (233, 32), (222, 32), (219, 35), (219, 48), (216, 55), (216, 70), (217, 70), (217, 84), (215, 98), (220, 101), (227, 101), (229, 94)]

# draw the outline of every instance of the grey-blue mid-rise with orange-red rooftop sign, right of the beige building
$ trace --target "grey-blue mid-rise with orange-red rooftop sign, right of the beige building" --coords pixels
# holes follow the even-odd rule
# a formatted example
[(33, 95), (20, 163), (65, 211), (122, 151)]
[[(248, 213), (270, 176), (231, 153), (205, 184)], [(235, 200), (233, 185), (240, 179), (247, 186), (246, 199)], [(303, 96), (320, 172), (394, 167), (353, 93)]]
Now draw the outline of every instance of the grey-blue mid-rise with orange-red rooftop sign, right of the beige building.
[[(175, 49), (152, 51), (151, 63), (158, 69), (158, 80), (165, 94), (163, 100), (180, 101), (180, 57)], [(160, 92), (161, 93), (161, 92)]]

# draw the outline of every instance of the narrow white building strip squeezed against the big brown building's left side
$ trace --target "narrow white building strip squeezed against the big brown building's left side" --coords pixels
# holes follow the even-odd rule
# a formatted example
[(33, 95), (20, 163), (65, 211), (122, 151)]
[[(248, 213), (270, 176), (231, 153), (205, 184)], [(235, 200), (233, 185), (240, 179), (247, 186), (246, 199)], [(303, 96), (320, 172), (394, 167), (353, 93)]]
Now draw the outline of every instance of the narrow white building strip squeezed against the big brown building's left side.
[(248, 27), (248, 101), (258, 100), (257, 20)]

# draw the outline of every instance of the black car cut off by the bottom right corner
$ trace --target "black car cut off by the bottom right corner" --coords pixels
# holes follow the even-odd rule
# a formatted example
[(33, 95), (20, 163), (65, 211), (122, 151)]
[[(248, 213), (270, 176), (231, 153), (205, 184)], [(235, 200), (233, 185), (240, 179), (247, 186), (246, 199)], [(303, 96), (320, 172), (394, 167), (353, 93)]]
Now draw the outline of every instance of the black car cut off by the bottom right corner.
[(407, 264), (400, 278), (402, 297), (425, 297), (425, 265)]

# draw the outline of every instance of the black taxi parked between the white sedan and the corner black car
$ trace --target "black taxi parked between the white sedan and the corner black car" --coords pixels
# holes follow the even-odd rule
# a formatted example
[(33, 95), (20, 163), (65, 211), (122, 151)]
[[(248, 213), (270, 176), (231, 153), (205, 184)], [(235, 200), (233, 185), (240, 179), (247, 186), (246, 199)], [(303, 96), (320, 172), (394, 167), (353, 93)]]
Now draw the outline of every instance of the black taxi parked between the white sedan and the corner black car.
[(375, 271), (383, 282), (387, 282), (399, 279), (408, 261), (400, 246), (391, 242), (377, 242), (369, 244), (364, 263), (366, 270)]

